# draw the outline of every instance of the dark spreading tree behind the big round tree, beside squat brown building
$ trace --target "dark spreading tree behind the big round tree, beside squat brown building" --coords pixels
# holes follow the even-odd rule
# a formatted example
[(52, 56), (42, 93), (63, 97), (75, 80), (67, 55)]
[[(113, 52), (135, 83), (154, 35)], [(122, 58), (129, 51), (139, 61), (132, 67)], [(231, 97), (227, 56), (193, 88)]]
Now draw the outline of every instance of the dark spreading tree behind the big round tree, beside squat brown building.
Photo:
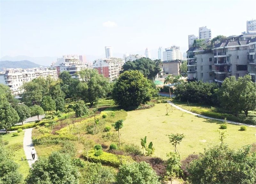
[(152, 80), (155, 78), (158, 72), (161, 71), (161, 60), (151, 60), (149, 58), (141, 58), (135, 61), (127, 61), (124, 66), (123, 70), (120, 73), (129, 70), (138, 70), (140, 71), (144, 77)]

